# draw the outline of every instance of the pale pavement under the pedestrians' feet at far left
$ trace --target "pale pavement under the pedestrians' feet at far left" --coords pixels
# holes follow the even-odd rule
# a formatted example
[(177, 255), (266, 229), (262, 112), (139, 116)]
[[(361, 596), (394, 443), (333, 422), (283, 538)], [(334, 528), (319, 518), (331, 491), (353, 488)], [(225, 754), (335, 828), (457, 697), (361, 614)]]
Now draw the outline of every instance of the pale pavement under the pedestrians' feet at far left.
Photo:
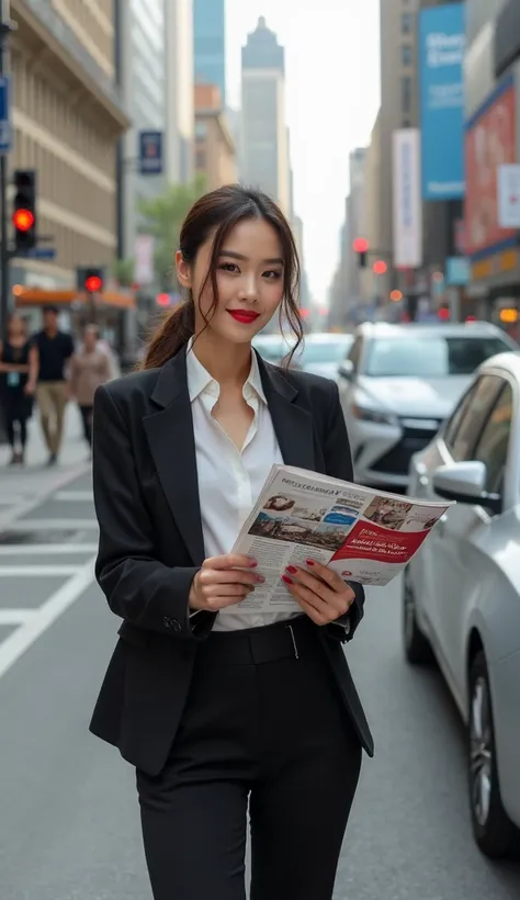
[(89, 452), (81, 434), (79, 412), (74, 404), (67, 407), (65, 439), (59, 462), (47, 468), (48, 451), (44, 443), (37, 410), (29, 424), (25, 466), (10, 466), (11, 450), (0, 446), (0, 527), (20, 504), (52, 494), (77, 474), (89, 470)]

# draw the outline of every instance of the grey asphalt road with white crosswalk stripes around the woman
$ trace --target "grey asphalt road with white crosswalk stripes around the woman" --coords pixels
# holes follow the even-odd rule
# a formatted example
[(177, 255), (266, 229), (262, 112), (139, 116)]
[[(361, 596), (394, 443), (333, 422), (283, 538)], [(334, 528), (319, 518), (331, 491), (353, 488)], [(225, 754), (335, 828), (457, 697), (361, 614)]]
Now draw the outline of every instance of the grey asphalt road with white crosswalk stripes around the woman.
[[(133, 770), (87, 730), (117, 625), (91, 582), (89, 479), (19, 519), (8, 540), (0, 900), (151, 900)], [(403, 662), (398, 586), (366, 606), (348, 653), (377, 750), (363, 766), (337, 900), (518, 900), (520, 866), (491, 865), (472, 842), (453, 704), (436, 671)]]

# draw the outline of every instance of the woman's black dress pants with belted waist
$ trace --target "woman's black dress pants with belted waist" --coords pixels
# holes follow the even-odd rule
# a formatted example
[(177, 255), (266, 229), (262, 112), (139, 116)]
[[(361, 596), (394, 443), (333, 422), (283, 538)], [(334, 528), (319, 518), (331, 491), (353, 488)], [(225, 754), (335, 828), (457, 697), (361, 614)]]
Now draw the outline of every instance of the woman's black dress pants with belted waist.
[(251, 900), (332, 897), (361, 745), (315, 626), (292, 625), (214, 632), (167, 765), (137, 772), (155, 900), (245, 900), (248, 803)]

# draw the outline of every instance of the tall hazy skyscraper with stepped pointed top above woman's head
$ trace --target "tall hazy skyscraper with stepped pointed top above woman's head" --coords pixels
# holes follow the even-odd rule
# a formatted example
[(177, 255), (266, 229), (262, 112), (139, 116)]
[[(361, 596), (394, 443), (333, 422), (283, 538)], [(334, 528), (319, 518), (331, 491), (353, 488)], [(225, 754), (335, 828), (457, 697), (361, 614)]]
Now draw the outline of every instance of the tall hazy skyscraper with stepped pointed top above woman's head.
[(242, 47), (241, 88), (241, 179), (261, 188), (291, 215), (285, 52), (263, 16)]

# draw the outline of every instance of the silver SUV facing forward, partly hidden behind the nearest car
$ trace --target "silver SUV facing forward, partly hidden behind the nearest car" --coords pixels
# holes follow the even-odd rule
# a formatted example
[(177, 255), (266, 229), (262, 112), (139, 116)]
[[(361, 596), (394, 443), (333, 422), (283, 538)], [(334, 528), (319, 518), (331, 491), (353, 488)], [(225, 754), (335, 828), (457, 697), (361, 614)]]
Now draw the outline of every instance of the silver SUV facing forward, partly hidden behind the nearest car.
[(339, 367), (358, 481), (406, 488), (412, 454), (430, 442), (475, 369), (513, 349), (489, 323), (361, 325)]

